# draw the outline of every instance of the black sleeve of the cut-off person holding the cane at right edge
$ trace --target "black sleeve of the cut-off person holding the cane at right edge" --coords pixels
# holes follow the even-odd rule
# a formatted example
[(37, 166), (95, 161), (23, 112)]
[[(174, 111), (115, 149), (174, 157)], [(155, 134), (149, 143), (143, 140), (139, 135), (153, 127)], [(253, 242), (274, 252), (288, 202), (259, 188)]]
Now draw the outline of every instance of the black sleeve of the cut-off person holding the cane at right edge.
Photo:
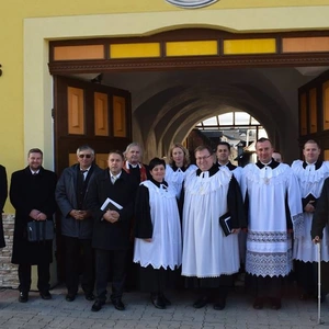
[(324, 237), (324, 228), (328, 224), (329, 217), (329, 179), (326, 179), (322, 192), (317, 202), (317, 207), (313, 216), (310, 235), (314, 239)]

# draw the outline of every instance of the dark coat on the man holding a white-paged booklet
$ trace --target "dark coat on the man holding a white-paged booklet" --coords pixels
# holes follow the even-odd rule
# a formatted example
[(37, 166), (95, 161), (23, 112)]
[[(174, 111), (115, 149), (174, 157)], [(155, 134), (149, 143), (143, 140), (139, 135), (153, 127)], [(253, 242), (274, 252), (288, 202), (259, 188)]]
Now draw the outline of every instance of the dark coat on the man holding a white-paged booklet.
[[(93, 248), (104, 250), (129, 248), (131, 223), (137, 186), (137, 180), (124, 170), (115, 184), (111, 182), (109, 169), (103, 170), (90, 182), (87, 206), (94, 218)], [(100, 208), (107, 197), (123, 206), (123, 209), (118, 211), (120, 219), (114, 224), (102, 219), (105, 212)]]

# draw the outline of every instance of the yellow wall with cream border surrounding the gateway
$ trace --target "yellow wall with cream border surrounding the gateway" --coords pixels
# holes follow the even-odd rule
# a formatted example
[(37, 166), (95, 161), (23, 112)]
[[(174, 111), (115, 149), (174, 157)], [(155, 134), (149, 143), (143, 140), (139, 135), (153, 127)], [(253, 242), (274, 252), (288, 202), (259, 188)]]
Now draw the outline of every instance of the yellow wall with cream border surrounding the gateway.
[[(44, 164), (53, 168), (49, 39), (148, 35), (189, 26), (232, 32), (324, 30), (329, 16), (329, 1), (324, 0), (220, 0), (198, 10), (179, 9), (164, 0), (2, 2), (0, 162), (9, 178), (25, 166), (31, 147), (44, 149)], [(9, 203), (5, 211), (12, 212)]]

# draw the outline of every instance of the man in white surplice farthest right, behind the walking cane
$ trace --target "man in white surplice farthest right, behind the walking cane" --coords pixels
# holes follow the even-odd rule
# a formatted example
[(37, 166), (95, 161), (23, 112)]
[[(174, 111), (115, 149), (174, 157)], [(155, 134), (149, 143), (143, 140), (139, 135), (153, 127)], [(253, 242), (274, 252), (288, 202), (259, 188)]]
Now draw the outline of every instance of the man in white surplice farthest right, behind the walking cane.
[[(325, 180), (329, 177), (329, 162), (319, 160), (319, 145), (308, 140), (303, 148), (304, 161), (296, 160), (292, 168), (298, 179), (303, 203), (303, 235), (295, 237), (293, 256), (297, 284), (300, 287), (299, 299), (317, 296), (317, 247), (309, 235), (311, 220), (317, 208)], [(324, 245), (328, 245), (327, 230), (324, 231)], [(329, 262), (328, 249), (324, 248), (321, 261)]]

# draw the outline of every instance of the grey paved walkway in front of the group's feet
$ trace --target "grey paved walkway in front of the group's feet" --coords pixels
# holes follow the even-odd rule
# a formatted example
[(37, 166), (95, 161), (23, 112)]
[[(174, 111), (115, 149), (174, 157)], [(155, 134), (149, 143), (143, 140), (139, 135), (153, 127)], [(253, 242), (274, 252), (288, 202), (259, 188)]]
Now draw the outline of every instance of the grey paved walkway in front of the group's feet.
[(116, 310), (111, 304), (99, 311), (90, 310), (92, 302), (81, 294), (75, 302), (65, 300), (65, 288), (52, 291), (53, 299), (43, 300), (38, 293), (30, 293), (26, 304), (18, 302), (18, 291), (0, 292), (1, 329), (89, 329), (89, 328), (157, 328), (157, 329), (258, 329), (258, 328), (329, 328), (328, 297), (322, 304), (321, 319), (317, 325), (317, 303), (298, 300), (292, 288), (283, 298), (280, 310), (264, 308), (254, 310), (252, 299), (241, 288), (230, 293), (227, 307), (214, 310), (212, 305), (194, 309), (191, 305), (194, 294), (191, 292), (169, 292), (172, 306), (166, 310), (156, 309), (148, 295), (137, 292), (126, 293), (125, 311)]

